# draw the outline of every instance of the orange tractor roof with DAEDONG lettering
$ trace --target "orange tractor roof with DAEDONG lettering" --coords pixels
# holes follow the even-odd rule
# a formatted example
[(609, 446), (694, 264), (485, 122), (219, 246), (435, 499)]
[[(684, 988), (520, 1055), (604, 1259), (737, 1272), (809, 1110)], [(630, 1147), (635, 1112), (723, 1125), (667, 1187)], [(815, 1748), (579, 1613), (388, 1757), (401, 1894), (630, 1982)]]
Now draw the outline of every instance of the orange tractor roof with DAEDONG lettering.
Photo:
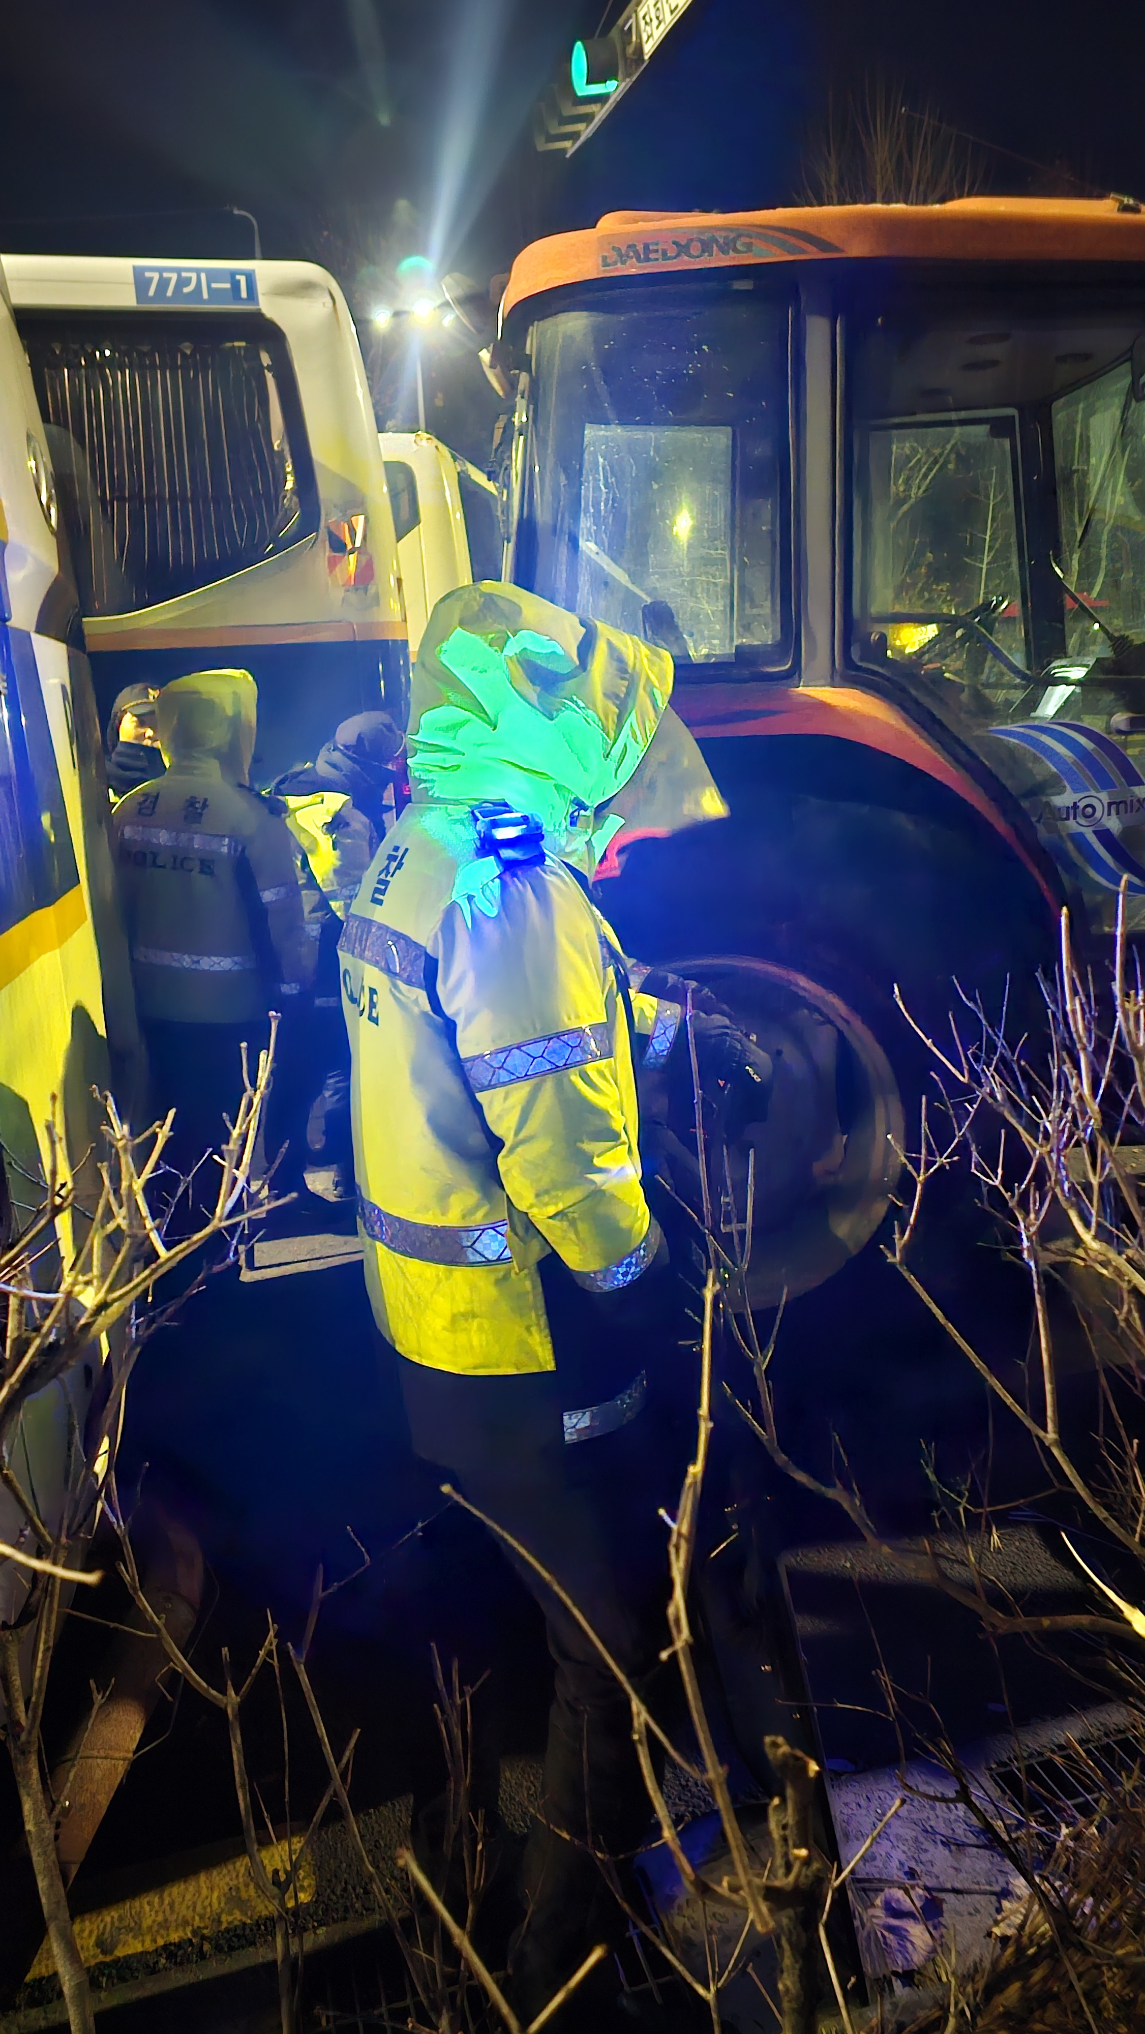
[(1145, 212), (1119, 197), (956, 197), (946, 205), (789, 205), (775, 212), (606, 212), (533, 240), (502, 299), (563, 283), (785, 260), (1145, 262)]

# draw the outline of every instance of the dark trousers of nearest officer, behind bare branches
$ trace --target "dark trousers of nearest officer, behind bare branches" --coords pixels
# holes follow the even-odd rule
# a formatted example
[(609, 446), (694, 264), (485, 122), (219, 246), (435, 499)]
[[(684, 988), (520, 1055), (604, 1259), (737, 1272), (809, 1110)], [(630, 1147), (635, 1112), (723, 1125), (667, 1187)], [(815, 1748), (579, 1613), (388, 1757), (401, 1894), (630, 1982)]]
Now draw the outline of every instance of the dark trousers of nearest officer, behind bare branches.
[[(657, 1674), (667, 1672), (659, 1507), (679, 1489), (677, 1448), (655, 1403), (618, 1432), (574, 1446), (561, 1428), (561, 1410), (600, 1403), (655, 1361), (655, 1351), (626, 1340), (628, 1357), (614, 1351), (604, 1371), (600, 1347), (596, 1363), (569, 1361), (555, 1375), (460, 1377), (403, 1359), (399, 1367), (417, 1452), (449, 1469), (470, 1503), (535, 1556), (655, 1707)], [(586, 1397), (592, 1389), (598, 1395)], [(545, 1613), (555, 1664), (543, 1802), (525, 1853), (529, 1926), (515, 1959), (519, 2010), (531, 2016), (596, 1940), (624, 1932), (596, 1853), (622, 1865), (645, 1837), (651, 1804), (628, 1696), (531, 1562), (500, 1546)]]

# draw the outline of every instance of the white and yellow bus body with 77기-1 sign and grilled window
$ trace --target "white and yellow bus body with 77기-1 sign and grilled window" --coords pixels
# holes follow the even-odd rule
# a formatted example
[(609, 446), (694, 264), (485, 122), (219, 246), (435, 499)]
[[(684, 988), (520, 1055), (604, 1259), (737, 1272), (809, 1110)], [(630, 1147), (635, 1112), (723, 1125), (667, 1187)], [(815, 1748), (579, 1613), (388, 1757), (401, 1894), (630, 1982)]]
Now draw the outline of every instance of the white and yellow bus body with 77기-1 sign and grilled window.
[(238, 665), (252, 779), (348, 714), (401, 712), (386, 474), (338, 283), (311, 262), (4, 258), (106, 716), (122, 685)]

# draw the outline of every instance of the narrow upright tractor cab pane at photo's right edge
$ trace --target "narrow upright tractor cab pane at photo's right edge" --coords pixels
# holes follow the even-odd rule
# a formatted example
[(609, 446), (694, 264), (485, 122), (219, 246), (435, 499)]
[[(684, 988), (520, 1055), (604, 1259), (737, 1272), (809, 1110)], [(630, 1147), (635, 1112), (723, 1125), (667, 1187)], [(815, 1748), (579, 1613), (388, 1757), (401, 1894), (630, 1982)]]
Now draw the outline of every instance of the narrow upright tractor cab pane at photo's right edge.
[[(1145, 403), (1133, 364), (1053, 405), (1062, 574), (1112, 635), (1145, 635)], [(1066, 653), (1108, 655), (1092, 614), (1066, 600)]]

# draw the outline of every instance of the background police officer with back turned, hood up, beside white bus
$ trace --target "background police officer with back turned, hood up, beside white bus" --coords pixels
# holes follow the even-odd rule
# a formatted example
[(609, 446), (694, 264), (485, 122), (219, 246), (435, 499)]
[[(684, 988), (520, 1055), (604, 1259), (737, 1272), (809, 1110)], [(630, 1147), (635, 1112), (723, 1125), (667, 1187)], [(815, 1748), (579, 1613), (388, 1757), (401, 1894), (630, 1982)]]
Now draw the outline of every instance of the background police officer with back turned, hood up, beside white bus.
[[(313, 974), (291, 834), (246, 781), (256, 706), (248, 671), (165, 685), (167, 775), (112, 816), (153, 1106), (177, 1111), (169, 1161), (183, 1176), (234, 1117), (240, 1043), (256, 1052), (268, 1011), (289, 1013)], [(214, 1202), (207, 1168), (191, 1202)]]

